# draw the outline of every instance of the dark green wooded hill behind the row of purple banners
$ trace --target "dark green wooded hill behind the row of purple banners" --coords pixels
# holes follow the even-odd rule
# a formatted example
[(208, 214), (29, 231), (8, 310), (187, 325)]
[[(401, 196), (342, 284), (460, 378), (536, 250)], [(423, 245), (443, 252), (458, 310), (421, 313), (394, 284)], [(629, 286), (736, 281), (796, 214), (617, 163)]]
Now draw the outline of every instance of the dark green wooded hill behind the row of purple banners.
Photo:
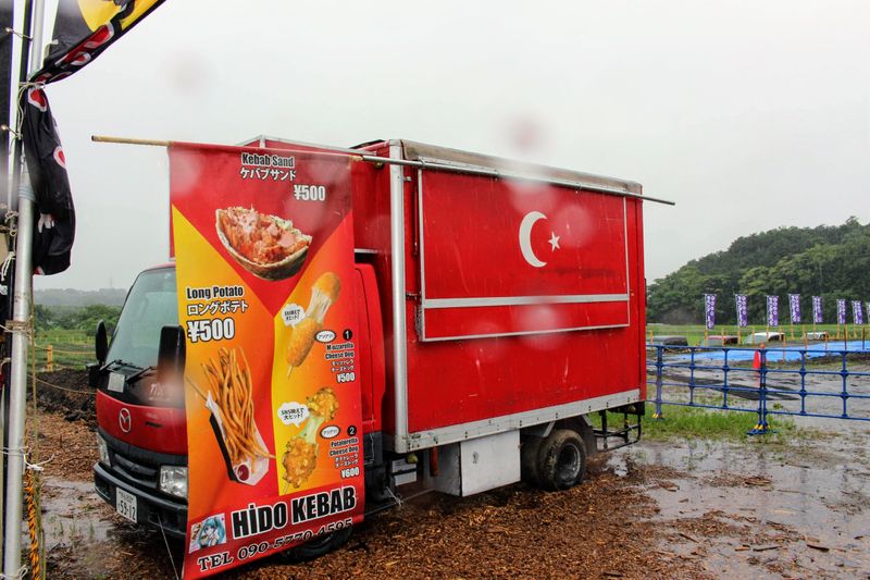
[[(787, 294), (800, 295), (805, 321), (810, 296), (822, 297), (824, 321), (836, 322), (836, 299), (870, 298), (870, 224), (849, 218), (842, 225), (778, 227), (735, 239), (723, 251), (691, 260), (647, 288), (647, 320), (704, 322), (704, 294), (718, 296), (716, 321), (736, 324), (735, 294), (747, 296), (749, 324), (763, 324), (765, 296), (780, 296), (780, 320), (788, 320)], [(783, 316), (784, 314), (784, 316)]]

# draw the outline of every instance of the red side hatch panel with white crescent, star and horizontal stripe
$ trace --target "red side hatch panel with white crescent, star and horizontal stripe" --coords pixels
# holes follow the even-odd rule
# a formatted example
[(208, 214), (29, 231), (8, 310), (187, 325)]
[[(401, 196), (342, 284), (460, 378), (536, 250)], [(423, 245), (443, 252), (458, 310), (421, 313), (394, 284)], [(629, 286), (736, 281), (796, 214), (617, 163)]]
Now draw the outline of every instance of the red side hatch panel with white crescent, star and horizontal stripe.
[(627, 325), (621, 197), (437, 171), (418, 195), (423, 340)]

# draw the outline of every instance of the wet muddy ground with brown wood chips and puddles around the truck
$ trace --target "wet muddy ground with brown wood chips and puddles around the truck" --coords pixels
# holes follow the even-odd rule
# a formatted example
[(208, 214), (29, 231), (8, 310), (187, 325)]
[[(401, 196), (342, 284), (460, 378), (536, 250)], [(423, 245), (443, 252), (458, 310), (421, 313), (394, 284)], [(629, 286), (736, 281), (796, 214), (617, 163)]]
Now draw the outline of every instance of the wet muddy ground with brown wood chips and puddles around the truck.
[[(80, 373), (41, 378), (86, 391)], [(90, 396), (45, 385), (38, 397), (48, 577), (172, 578), (181, 546), (92, 492)], [(597, 458), (567, 492), (430, 494), (316, 562), (227, 577), (870, 578), (868, 442), (870, 425), (843, 421), (788, 445), (642, 442)]]

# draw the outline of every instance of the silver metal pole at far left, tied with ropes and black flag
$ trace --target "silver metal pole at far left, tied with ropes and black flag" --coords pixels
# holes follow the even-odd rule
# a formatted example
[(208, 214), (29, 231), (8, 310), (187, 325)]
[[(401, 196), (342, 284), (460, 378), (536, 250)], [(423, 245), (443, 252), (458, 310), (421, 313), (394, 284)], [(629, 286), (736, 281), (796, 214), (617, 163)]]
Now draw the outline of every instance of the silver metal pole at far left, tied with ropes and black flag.
[[(28, 73), (38, 70), (42, 61), (44, 0), (34, 0), (32, 8), (30, 63)], [(18, 219), (15, 240), (15, 295), (12, 317), (12, 365), (9, 399), (9, 443), (7, 444), (5, 536), (3, 539), (3, 576), (21, 575), (22, 488), (24, 485), (24, 424), (27, 403), (27, 350), (33, 331), (33, 238), (36, 198), (29, 175), (22, 171), (18, 187)]]

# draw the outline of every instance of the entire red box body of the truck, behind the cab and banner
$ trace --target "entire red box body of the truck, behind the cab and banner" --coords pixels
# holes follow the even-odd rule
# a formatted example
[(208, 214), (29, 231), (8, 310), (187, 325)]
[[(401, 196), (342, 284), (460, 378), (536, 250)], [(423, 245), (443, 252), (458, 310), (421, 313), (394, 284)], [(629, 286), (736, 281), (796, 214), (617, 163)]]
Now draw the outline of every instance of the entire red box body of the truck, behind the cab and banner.
[[(370, 424), (395, 435), (394, 448), (645, 398), (639, 185), (409, 141), (373, 143), (359, 151), (424, 162), (360, 162), (353, 169), (355, 245), (364, 252), (358, 261), (370, 263), (376, 276), (384, 329), (387, 386), (383, 404), (372, 402)], [(451, 165), (442, 170), (445, 159)], [(493, 166), (490, 175), (477, 171)], [(547, 176), (501, 176), (511, 169)], [(396, 171), (400, 285), (393, 282), (390, 244)], [(397, 287), (405, 303), (398, 343)], [(405, 349), (403, 368), (396, 367), (396, 348)]]

